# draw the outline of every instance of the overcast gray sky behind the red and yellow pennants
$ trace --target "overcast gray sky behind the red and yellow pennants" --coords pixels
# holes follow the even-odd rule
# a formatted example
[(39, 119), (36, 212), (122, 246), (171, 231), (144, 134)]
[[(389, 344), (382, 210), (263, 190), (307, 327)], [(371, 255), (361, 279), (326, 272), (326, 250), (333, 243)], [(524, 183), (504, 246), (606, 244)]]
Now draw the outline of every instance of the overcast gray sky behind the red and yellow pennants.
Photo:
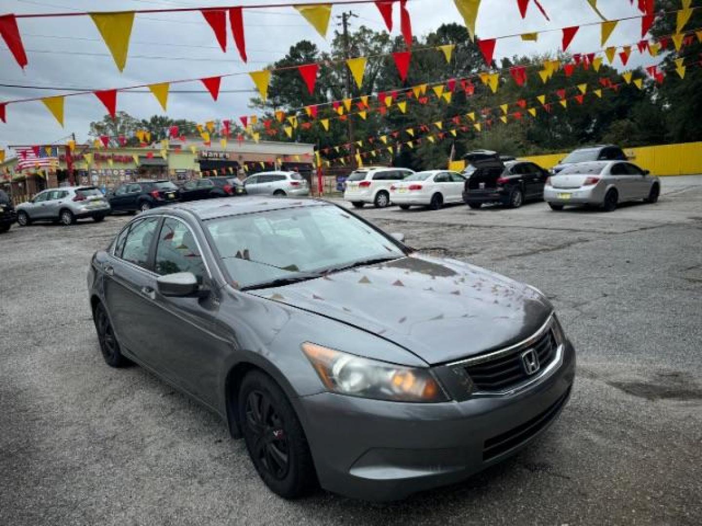
[[(278, 0), (268, 3), (274, 4)], [(88, 11), (99, 4), (102, 11), (184, 6), (225, 6), (232, 4), (265, 4), (265, 0), (0, 0), (0, 13), (51, 13)], [(530, 3), (527, 18), (519, 16), (516, 0), (483, 0), (477, 20), (477, 34), (483, 38), (569, 25), (597, 22), (599, 18), (587, 0), (541, 0), (550, 22)], [(600, 1), (600, 11), (609, 19), (638, 15), (628, 0)], [(635, 4), (635, 3), (634, 3)], [(426, 34), (446, 22), (463, 23), (452, 0), (412, 0), (408, 4), (413, 32)], [(385, 30), (383, 20), (373, 4), (347, 6), (359, 15), (353, 25), (366, 25)], [(398, 6), (395, 7), (395, 32), (399, 29)], [(344, 11), (335, 6), (332, 15)], [(333, 19), (336, 22), (336, 19)], [(329, 40), (332, 35), (329, 27)], [(134, 21), (127, 65), (121, 74), (88, 17), (30, 18), (18, 22), (25, 43), (29, 65), (25, 72), (18, 67), (4, 42), (0, 41), (0, 83), (51, 88), (106, 89), (156, 83), (219, 74), (250, 72), (282, 58), (289, 47), (300, 39), (308, 39), (320, 48), (329, 46), (293, 8), (270, 8), (244, 11), (246, 48), (249, 63), (239, 59), (231, 32), (227, 53), (223, 53), (213, 32), (200, 13), (161, 13), (137, 15)], [(640, 20), (620, 22), (609, 45), (629, 44), (640, 37)], [(555, 52), (560, 46), (559, 31), (542, 34), (538, 43), (519, 38), (498, 41), (496, 58), (515, 54)], [(582, 28), (570, 50), (590, 52), (600, 48), (600, 27)], [(650, 59), (649, 59), (650, 62)], [(642, 63), (633, 53), (630, 65)], [(647, 63), (646, 60), (643, 61)], [(177, 89), (202, 89), (201, 83), (178, 84)], [(248, 75), (223, 79), (221, 90), (252, 90)], [(60, 90), (37, 90), (0, 87), (0, 100), (50, 96), (67, 93)], [(173, 119), (204, 122), (211, 119), (238, 119), (250, 113), (249, 97), (253, 93), (220, 93), (214, 102), (208, 93), (171, 93), (168, 115)], [(150, 93), (120, 93), (117, 109), (143, 118), (162, 114), (159, 103)], [(319, 102), (324, 102), (320, 100)], [(85, 140), (91, 121), (102, 119), (105, 108), (93, 95), (67, 97), (65, 127), (61, 128), (41, 102), (11, 104), (7, 108), (8, 123), (0, 122), (0, 147), (8, 144), (63, 144), (74, 132)]]

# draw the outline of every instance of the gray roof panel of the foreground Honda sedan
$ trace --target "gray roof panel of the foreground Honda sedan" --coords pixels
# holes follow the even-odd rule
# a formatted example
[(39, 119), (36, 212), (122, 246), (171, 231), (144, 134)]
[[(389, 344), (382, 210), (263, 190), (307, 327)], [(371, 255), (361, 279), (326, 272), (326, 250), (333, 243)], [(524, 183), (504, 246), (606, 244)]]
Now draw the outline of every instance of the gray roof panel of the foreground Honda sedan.
[(174, 203), (173, 205), (154, 208), (145, 215), (159, 215), (169, 210), (174, 212), (185, 212), (194, 215), (200, 220), (207, 221), (218, 217), (229, 217), (232, 215), (244, 215), (268, 210), (284, 210), (286, 208), (304, 208), (307, 206), (328, 205), (333, 206), (328, 201), (322, 199), (292, 199), (272, 196), (242, 196), (237, 198), (223, 197), (218, 199), (204, 199), (202, 201), (187, 201), (185, 203)]

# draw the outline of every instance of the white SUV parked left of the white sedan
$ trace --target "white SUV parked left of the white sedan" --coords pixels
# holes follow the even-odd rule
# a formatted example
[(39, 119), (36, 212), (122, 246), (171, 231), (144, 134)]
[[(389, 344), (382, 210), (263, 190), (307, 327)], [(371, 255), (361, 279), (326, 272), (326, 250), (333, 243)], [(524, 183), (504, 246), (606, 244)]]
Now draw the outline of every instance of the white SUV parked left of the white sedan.
[(351, 201), (356, 208), (362, 208), (365, 203), (385, 208), (390, 204), (392, 183), (412, 173), (409, 168), (358, 168), (346, 180), (344, 200)]

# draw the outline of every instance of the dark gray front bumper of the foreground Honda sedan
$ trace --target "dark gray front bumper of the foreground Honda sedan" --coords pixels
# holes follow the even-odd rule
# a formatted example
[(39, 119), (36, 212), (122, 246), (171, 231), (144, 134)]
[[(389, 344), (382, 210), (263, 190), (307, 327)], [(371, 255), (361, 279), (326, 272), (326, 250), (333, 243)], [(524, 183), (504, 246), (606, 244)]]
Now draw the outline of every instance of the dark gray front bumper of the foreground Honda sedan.
[(402, 499), (456, 483), (531, 443), (567, 403), (575, 351), (512, 395), (437, 404), (319, 393), (296, 400), (319, 482), (364, 500)]

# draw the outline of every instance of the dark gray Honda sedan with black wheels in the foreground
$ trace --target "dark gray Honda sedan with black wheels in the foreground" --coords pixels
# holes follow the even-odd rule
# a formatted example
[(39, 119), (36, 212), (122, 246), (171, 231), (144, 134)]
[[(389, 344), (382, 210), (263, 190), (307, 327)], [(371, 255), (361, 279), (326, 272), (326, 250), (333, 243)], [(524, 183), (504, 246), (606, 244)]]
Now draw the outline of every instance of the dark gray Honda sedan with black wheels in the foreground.
[(220, 414), (282, 497), (456, 482), (552, 424), (575, 352), (536, 289), (399, 238), (311, 199), (150, 210), (91, 262), (102, 355)]

